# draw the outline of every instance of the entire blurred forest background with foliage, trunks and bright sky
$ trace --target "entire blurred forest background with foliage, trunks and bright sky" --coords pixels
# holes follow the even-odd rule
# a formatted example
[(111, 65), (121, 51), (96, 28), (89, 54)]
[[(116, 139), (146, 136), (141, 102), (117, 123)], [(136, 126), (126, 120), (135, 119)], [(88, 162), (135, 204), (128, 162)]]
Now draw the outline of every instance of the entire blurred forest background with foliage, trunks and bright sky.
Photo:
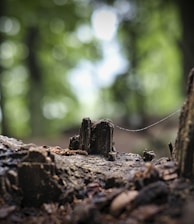
[(0, 131), (54, 137), (83, 117), (138, 128), (182, 105), (191, 0), (1, 0)]

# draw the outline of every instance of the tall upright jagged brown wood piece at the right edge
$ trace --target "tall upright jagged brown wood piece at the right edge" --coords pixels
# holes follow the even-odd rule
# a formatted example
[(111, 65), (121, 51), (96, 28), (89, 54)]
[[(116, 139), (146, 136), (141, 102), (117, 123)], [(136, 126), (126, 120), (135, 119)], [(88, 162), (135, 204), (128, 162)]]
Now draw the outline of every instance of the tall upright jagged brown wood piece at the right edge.
[(194, 177), (194, 68), (188, 77), (187, 96), (183, 104), (177, 139), (175, 159), (178, 161), (180, 175)]

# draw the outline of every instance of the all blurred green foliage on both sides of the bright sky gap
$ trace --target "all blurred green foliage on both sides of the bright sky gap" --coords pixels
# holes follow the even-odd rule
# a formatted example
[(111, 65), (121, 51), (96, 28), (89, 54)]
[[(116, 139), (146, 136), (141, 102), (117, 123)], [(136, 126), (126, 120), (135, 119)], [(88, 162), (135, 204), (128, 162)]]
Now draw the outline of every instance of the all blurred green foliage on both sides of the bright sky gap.
[[(79, 101), (70, 74), (83, 59), (94, 65), (102, 59), (102, 44), (92, 33), (91, 17), (96, 9), (105, 6), (117, 14), (116, 40), (128, 64), (110, 86), (101, 88), (96, 101), (98, 115), (127, 121), (133, 114), (162, 115), (180, 105), (182, 63), (177, 41), (181, 38), (181, 26), (176, 4), (162, 7), (159, 0), (1, 0), (3, 4), (0, 15), (3, 134), (35, 135), (31, 122), (38, 121), (34, 125), (40, 127), (39, 135), (53, 135), (80, 123), (85, 105)], [(27, 42), (31, 28), (37, 31), (31, 53), (40, 73), (38, 79), (27, 63), (32, 60), (31, 43)], [(37, 105), (40, 113), (34, 113), (38, 111), (34, 110)]]

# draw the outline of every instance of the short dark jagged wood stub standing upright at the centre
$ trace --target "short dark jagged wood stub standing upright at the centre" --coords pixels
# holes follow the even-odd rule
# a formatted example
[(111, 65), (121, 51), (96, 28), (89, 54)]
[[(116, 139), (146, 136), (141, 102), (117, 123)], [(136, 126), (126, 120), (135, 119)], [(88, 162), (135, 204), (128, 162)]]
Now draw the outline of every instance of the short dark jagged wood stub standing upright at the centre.
[(87, 151), (88, 154), (104, 155), (112, 159), (113, 131), (114, 125), (108, 119), (92, 122), (90, 118), (84, 118), (79, 135), (70, 138), (69, 149), (81, 149)]

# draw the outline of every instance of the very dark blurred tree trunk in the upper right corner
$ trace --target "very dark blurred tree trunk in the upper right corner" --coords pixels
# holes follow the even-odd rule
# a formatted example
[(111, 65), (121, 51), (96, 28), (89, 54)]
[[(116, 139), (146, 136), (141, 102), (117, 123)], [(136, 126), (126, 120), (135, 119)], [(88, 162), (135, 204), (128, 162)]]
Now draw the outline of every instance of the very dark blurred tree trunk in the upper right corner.
[(187, 75), (194, 66), (194, 4), (193, 0), (178, 1), (182, 26), (183, 77), (186, 86)]

